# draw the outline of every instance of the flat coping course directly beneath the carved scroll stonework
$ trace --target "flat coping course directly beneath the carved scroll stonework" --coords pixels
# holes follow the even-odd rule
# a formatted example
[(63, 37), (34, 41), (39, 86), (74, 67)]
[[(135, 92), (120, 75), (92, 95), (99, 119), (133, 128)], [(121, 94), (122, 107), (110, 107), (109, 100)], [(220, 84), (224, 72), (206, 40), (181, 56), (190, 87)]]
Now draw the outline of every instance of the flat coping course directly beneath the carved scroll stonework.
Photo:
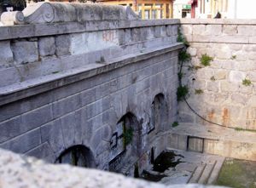
[(44, 37), (84, 31), (129, 29), (145, 26), (177, 25), (179, 20), (94, 20), (37, 25), (0, 26), (0, 41), (23, 37)]

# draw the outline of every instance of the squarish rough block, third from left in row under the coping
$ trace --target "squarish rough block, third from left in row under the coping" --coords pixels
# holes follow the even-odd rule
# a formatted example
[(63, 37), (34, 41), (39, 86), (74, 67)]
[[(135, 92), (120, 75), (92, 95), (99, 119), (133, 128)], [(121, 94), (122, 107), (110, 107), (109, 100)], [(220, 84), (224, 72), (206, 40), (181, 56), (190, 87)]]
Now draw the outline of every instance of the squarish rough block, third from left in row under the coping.
[(38, 49), (41, 56), (55, 54), (55, 37), (40, 37)]

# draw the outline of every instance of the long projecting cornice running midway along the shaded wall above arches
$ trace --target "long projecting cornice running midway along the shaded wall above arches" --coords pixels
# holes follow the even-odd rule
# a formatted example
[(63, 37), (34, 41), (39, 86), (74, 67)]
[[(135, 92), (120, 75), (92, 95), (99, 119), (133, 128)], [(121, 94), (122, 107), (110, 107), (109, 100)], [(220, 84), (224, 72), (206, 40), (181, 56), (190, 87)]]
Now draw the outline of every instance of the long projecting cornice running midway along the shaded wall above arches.
[(15, 83), (13, 85), (0, 88), (0, 105), (8, 104), (15, 100), (21, 100), (34, 94), (39, 94), (70, 83), (75, 83), (79, 80), (93, 77), (97, 74), (111, 71), (140, 60), (147, 60), (156, 55), (165, 54), (179, 48), (183, 48), (182, 43), (174, 43), (158, 48), (150, 48), (144, 52), (126, 54), (125, 56), (122, 56), (116, 60), (108, 61), (104, 64), (89, 64), (77, 69), (62, 71), (60, 73), (51, 74), (45, 77), (31, 79), (23, 83)]

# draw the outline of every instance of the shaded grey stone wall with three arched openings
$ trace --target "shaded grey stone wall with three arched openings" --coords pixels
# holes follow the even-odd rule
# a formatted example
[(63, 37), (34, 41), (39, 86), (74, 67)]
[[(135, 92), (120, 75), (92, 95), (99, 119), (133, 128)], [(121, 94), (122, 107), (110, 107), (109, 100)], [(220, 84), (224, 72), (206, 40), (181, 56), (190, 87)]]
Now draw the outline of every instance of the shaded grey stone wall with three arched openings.
[[(68, 148), (84, 145), (94, 167), (120, 161), (125, 171), (119, 171), (133, 175), (136, 162), (148, 165), (152, 147), (155, 157), (166, 149), (159, 135), (177, 119), (178, 20), (136, 20), (119, 6), (113, 19), (99, 20), (98, 5), (43, 5), (24, 10), (27, 25), (13, 20), (18, 26), (0, 27), (0, 147), (60, 162)], [(59, 17), (45, 20), (43, 10)], [(90, 11), (90, 19), (65, 17), (80, 10)], [(157, 94), (165, 111), (153, 123)], [(136, 126), (124, 148), (119, 122), (127, 114)], [(130, 161), (119, 156), (129, 152)]]

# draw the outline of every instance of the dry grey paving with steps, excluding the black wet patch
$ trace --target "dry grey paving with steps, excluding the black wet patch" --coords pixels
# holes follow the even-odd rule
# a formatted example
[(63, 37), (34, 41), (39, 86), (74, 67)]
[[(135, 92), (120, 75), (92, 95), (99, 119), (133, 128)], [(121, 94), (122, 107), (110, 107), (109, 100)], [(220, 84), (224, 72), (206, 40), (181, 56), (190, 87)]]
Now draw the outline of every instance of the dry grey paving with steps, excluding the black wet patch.
[(178, 151), (168, 148), (175, 154), (174, 162), (180, 161), (175, 167), (166, 169), (163, 173), (151, 169), (147, 171), (154, 175), (166, 175), (160, 179), (165, 185), (199, 183), (212, 184), (217, 178), (224, 163), (224, 157), (198, 153), (193, 151)]

